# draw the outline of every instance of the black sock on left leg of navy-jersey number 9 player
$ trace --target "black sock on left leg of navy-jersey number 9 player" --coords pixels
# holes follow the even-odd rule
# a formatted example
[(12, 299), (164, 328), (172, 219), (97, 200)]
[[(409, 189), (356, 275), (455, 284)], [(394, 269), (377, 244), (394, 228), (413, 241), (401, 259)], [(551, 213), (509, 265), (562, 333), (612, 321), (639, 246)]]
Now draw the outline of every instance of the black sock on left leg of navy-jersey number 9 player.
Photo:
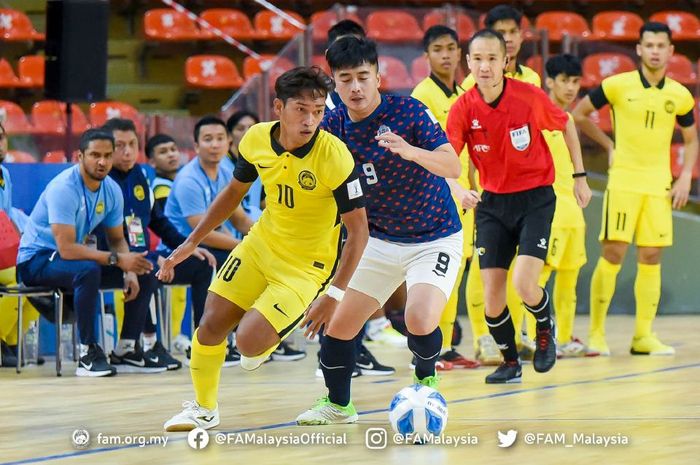
[(355, 370), (355, 341), (326, 335), (321, 344), (321, 370), (328, 388), (328, 399), (343, 407), (348, 405)]

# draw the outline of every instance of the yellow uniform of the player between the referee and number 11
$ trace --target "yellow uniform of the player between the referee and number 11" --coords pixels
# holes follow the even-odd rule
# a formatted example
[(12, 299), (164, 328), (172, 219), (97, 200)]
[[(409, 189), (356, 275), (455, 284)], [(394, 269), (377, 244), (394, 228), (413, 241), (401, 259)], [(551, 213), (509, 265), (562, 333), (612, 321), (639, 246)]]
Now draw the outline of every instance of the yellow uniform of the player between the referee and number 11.
[[(571, 115), (569, 115), (571, 118)], [(586, 221), (574, 196), (574, 165), (561, 131), (542, 131), (554, 160), (554, 193), (557, 207), (549, 235), (546, 266), (540, 276), (544, 287), (556, 270), (552, 303), (557, 318), (557, 339), (566, 344), (573, 337), (576, 314), (576, 283), (586, 263)]]

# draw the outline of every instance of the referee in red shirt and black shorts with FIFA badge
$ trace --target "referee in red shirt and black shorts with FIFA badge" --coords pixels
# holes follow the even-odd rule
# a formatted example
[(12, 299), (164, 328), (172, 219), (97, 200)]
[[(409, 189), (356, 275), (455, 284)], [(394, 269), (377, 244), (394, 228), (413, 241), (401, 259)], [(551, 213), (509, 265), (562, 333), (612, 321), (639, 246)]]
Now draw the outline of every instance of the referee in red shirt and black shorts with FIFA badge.
[(447, 134), (457, 153), (467, 145), (484, 188), (476, 209), (476, 251), (486, 322), (504, 359), (486, 382), (519, 383), (522, 367), (506, 307), (506, 277), (516, 251), (513, 283), (537, 319), (535, 371), (549, 371), (557, 359), (549, 295), (537, 284), (556, 205), (554, 164), (543, 130), (563, 132), (581, 207), (588, 205), (591, 191), (573, 120), (541, 89), (503, 76), (507, 65), (503, 36), (490, 29), (474, 34), (467, 63), (476, 86), (452, 106)]

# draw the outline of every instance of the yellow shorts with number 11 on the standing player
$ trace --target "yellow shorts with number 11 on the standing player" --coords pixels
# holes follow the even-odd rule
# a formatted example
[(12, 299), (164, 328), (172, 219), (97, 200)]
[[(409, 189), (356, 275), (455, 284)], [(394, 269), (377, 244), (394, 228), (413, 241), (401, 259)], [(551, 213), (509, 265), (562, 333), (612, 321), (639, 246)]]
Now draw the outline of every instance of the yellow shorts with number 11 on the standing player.
[(621, 241), (640, 247), (673, 244), (671, 199), (659, 195), (606, 190), (599, 240)]

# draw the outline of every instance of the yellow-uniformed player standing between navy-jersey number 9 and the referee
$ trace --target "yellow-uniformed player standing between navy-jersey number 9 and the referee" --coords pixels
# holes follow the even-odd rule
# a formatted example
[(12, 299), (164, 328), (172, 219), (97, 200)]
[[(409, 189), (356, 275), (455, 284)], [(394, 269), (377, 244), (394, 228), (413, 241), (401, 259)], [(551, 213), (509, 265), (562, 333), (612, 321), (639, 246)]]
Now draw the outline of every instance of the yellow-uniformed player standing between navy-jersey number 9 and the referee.
[[(416, 85), (411, 97), (425, 104), (444, 130), (447, 128), (447, 115), (450, 112), (450, 107), (457, 100), (457, 97), (464, 93), (464, 89), (455, 80), (462, 54), (457, 33), (447, 26), (432, 26), (423, 35), (423, 50), (430, 65), (430, 76)], [(460, 162), (462, 163), (462, 174), (456, 181), (448, 180), (448, 184), (455, 202), (457, 202), (457, 211), (462, 220), (464, 251), (455, 287), (440, 319), (442, 353), (436, 365), (438, 369), (440, 364), (443, 364), (443, 368), (450, 367), (450, 365), (454, 368), (477, 368), (480, 365), (478, 362), (465, 358), (452, 348), (452, 333), (457, 317), (459, 288), (462, 284), (462, 275), (467, 266), (467, 260), (471, 258), (474, 250), (474, 210), (465, 208), (461, 200), (470, 189), (469, 154), (462, 154)], [(449, 362), (449, 364), (445, 364), (445, 362)]]

